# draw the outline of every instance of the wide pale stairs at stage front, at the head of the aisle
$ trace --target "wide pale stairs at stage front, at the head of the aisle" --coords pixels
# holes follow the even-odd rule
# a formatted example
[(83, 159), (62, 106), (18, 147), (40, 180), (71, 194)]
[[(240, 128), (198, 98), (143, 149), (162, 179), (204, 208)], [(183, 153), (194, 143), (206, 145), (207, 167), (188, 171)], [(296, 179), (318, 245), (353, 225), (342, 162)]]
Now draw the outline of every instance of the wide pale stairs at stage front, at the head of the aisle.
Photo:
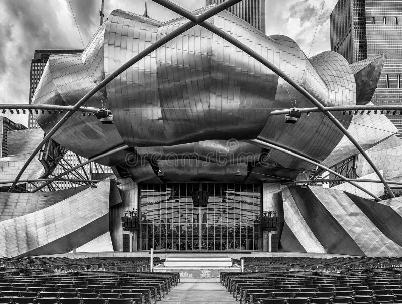
[(168, 257), (154, 272), (179, 272), (180, 277), (219, 277), (221, 272), (240, 272), (229, 257)]

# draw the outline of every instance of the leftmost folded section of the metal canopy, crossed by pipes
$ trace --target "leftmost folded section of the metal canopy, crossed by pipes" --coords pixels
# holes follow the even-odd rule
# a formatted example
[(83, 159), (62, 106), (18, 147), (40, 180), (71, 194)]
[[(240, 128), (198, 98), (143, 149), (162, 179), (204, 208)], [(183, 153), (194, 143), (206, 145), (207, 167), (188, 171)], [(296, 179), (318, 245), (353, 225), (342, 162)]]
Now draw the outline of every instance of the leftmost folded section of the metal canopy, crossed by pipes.
[[(33, 104), (74, 105), (98, 82), (102, 81), (103, 71), (103, 37), (105, 24), (95, 33), (82, 54), (51, 55), (42, 78), (33, 96)], [(102, 56), (101, 56), (102, 55)], [(102, 60), (100, 60), (102, 59)], [(106, 102), (106, 89), (91, 97), (87, 106), (101, 107)], [(41, 128), (48, 132), (62, 117), (61, 114), (36, 115)], [(75, 113), (53, 135), (56, 142), (67, 149), (89, 159), (114, 146), (123, 143), (113, 124), (102, 124), (94, 116)], [(100, 160), (103, 165), (115, 165), (124, 161), (120, 158)]]

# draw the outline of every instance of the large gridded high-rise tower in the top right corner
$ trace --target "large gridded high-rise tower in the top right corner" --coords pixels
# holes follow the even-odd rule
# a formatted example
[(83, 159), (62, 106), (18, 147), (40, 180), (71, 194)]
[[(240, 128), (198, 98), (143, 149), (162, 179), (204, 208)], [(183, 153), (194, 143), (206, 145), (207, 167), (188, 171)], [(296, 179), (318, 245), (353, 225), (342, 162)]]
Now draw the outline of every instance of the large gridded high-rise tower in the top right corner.
[[(330, 15), (331, 50), (349, 63), (386, 53), (374, 104), (402, 103), (402, 1), (339, 0)], [(402, 116), (387, 115), (402, 137)]]

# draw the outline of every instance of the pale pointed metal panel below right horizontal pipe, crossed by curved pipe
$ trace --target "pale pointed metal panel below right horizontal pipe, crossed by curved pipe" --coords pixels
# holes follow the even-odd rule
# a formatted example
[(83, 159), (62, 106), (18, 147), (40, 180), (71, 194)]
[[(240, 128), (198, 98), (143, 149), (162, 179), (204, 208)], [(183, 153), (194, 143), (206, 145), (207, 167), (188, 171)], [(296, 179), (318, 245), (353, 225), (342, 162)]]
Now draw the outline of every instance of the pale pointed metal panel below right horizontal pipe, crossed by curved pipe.
[[(372, 103), (370, 102), (369, 104)], [(343, 117), (347, 116), (349, 115)], [(397, 133), (398, 129), (387, 117), (385, 117), (385, 115), (359, 113), (353, 115), (352, 123), (350, 124), (348, 131), (354, 138), (356, 138), (363, 149), (367, 150)], [(330, 155), (328, 155), (321, 164), (327, 167), (332, 167), (333, 165), (358, 154), (360, 153), (357, 148), (346, 136), (343, 136), (341, 141), (339, 141)]]

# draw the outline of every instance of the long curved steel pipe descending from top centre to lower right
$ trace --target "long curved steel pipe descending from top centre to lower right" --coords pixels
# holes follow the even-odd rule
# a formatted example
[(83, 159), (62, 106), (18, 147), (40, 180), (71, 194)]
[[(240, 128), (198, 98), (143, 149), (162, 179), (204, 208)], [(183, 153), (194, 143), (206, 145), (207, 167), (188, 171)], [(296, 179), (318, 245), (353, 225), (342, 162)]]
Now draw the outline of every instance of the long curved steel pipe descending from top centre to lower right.
[[(187, 10), (181, 8), (180, 6), (170, 2), (169, 0), (153, 0), (154, 2), (172, 10), (173, 12), (180, 14), (181, 16), (196, 22), (199, 21), (199, 16), (195, 16), (191, 12), (188, 12)], [(384, 177), (378, 170), (377, 166), (373, 163), (373, 161), (370, 159), (370, 157), (366, 154), (364, 149), (361, 147), (361, 145), (356, 141), (356, 139), (348, 132), (348, 130), (338, 121), (338, 119), (335, 118), (334, 115), (332, 115), (330, 112), (325, 110), (325, 107), (316, 99), (314, 98), (308, 91), (306, 91), (302, 86), (300, 86), (297, 82), (295, 82), (293, 79), (291, 79), (288, 75), (286, 75), (283, 71), (281, 71), (278, 67), (273, 65), (270, 61), (262, 57), (260, 54), (256, 53), (237, 39), (233, 38), (226, 32), (222, 31), (221, 29), (218, 29), (214, 25), (208, 23), (208, 22), (201, 22), (199, 23), (200, 26), (206, 28), (207, 30), (211, 31), (212, 33), (218, 35), (219, 37), (225, 39), (229, 43), (233, 44), (234, 46), (238, 47), (251, 57), (253, 57), (255, 60), (258, 60), (260, 63), (265, 65), (267, 68), (271, 69), (273, 72), (275, 72), (279, 77), (287, 81), (291, 86), (293, 86), (297, 91), (299, 91), (301, 94), (303, 94), (307, 99), (309, 99), (321, 112), (323, 112), (334, 124), (335, 126), (342, 131), (346, 135), (346, 137), (349, 138), (349, 140), (353, 143), (353, 145), (359, 150), (361, 155), (366, 159), (366, 161), (370, 164), (371, 168), (373, 168), (374, 172), (377, 174), (379, 179), (382, 181), (384, 184), (385, 188), (388, 190), (390, 193), (391, 197), (395, 197), (394, 194), (391, 191), (391, 188), (389, 188), (388, 184), (385, 182)]]

